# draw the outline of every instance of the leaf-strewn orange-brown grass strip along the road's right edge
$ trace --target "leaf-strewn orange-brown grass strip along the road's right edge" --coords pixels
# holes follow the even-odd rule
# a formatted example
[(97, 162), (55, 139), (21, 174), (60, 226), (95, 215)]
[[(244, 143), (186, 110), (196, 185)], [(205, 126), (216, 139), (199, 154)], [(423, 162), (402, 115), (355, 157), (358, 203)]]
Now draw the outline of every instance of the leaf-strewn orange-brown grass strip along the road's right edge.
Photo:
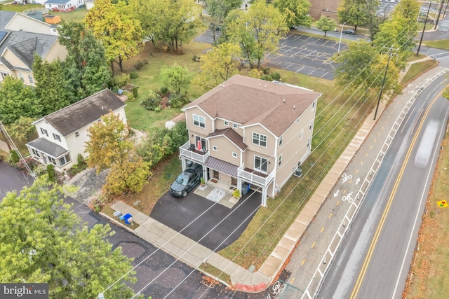
[(448, 169), (449, 140), (445, 134), (403, 298), (439, 299), (449, 293), (449, 207), (437, 204), (449, 200)]

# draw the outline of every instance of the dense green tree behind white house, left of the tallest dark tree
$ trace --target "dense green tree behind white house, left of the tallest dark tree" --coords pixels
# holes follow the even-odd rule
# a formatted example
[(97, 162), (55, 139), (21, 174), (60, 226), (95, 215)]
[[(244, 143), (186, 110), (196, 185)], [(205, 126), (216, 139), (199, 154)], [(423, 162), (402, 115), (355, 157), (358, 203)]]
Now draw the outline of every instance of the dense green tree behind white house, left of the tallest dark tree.
[(61, 61), (43, 61), (39, 55), (34, 54), (33, 75), (36, 81), (36, 97), (42, 108), (43, 115), (69, 106), (76, 102), (76, 96), (71, 92), (72, 86), (65, 78), (65, 69)]

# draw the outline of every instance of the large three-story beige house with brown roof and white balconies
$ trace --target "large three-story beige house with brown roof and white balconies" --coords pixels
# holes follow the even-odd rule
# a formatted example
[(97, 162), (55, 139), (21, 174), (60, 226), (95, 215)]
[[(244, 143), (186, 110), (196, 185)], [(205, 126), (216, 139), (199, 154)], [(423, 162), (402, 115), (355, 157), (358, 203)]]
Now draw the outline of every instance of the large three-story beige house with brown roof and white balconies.
[(297, 86), (236, 75), (185, 111), (189, 141), (180, 147), (182, 169), (203, 165), (203, 177), (274, 197), (311, 153), (317, 99)]

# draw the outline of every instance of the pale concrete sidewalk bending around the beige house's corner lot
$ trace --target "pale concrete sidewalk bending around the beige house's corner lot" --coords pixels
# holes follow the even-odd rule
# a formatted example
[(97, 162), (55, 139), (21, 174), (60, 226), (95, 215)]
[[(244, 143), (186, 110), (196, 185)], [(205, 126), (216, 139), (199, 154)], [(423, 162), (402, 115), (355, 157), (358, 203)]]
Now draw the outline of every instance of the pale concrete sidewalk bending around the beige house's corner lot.
[[(438, 76), (442, 76), (443, 74), (445, 74), (445, 71), (447, 71), (447, 69), (443, 67), (436, 67), (431, 71), (428, 71), (426, 74), (422, 75), (420, 80), (429, 81), (432, 77), (435, 76), (435, 74), (439, 74)], [(405, 93), (405, 95), (400, 95), (398, 97), (403, 97), (403, 100), (405, 100), (406, 97), (409, 97), (409, 95), (408, 93)], [(401, 113), (403, 105), (405, 104), (403, 104), (401, 101), (399, 101), (399, 103), (399, 105), (391, 107), (393, 112), (391, 112), (391, 115), (385, 117), (390, 118), (391, 116), (395, 116), (396, 114)], [(381, 102), (379, 110), (377, 111), (377, 121), (381, 126), (382, 122), (380, 122), (379, 120), (384, 109), (385, 104)], [(253, 272), (244, 269), (239, 265), (236, 265), (236, 263), (233, 263), (231, 260), (223, 258), (219, 254), (211, 251), (210, 249), (207, 249), (204, 246), (201, 246), (200, 244), (194, 242), (192, 239), (185, 237), (179, 232), (168, 228), (166, 225), (163, 225), (155, 221), (154, 219), (149, 218), (148, 216), (140, 213), (140, 211), (129, 207), (123, 202), (116, 202), (112, 205), (112, 209), (119, 210), (122, 212), (122, 214), (132, 214), (135, 223), (140, 224), (140, 226), (134, 230), (137, 235), (139, 235), (143, 239), (147, 239), (148, 242), (159, 246), (159, 248), (161, 248), (163, 251), (170, 253), (170, 255), (174, 256), (175, 258), (179, 258), (182, 262), (187, 263), (188, 265), (195, 268), (199, 267), (201, 263), (213, 265), (217, 269), (222, 270), (222, 272), (229, 274), (229, 276), (231, 277), (232, 285), (239, 291), (262, 291), (274, 282), (277, 274), (283, 268), (283, 265), (285, 265), (286, 261), (295, 250), (297, 242), (302, 239), (302, 237), (304, 236), (304, 232), (306, 232), (307, 228), (318, 214), (319, 210), (323, 206), (323, 203), (332, 192), (334, 186), (342, 178), (342, 175), (347, 169), (349, 163), (351, 162), (351, 160), (354, 160), (356, 153), (361, 148), (370, 132), (372, 132), (373, 127), (375, 127), (376, 125), (376, 121), (373, 120), (373, 118), (374, 111), (370, 113), (370, 115), (366, 118), (360, 130), (358, 130), (355, 137), (351, 140), (340, 158), (337, 160), (337, 162), (335, 162), (323, 181), (321, 181), (314, 195), (312, 195), (304, 209), (302, 209), (293, 224), (290, 225), (290, 228), (288, 228), (287, 232), (283, 235), (279, 244), (277, 244), (274, 251), (272, 251), (272, 253), (260, 266), (257, 272)], [(394, 117), (394, 119), (396, 118)], [(382, 134), (387, 137), (388, 132), (385, 131)], [(380, 135), (381, 134), (379, 133), (373, 138), (382, 139), (382, 136)], [(354, 213), (354, 211), (352, 211), (352, 213)], [(335, 229), (337, 229), (337, 227), (335, 227)], [(314, 234), (314, 237), (316, 238), (319, 236)], [(300, 247), (303, 242), (304, 241), (302, 240)], [(311, 248), (314, 248), (314, 245), (312, 245)], [(302, 252), (302, 250), (307, 252), (309, 251), (309, 249), (310, 247), (307, 248), (306, 246), (306, 248), (304, 249), (295, 250), (295, 253)], [(305, 252), (302, 252), (302, 254), (307, 254)], [(314, 274), (314, 268), (316, 268), (316, 260), (320, 260), (324, 255), (326, 255), (326, 251), (322, 253), (316, 253), (316, 257), (314, 258), (314, 260), (311, 260), (314, 263), (310, 263), (310, 265), (307, 265), (307, 272), (310, 272), (310, 275), (304, 275), (304, 280), (309, 279)], [(295, 258), (295, 256), (293, 256), (292, 258)], [(301, 258), (304, 257), (302, 256)], [(304, 264), (304, 261), (302, 262), (302, 264)], [(290, 262), (290, 264), (293, 263)], [(299, 263), (295, 263), (295, 265), (298, 264)], [(222, 281), (222, 283), (224, 282)], [(316, 281), (316, 283), (319, 283), (319, 281)], [(300, 287), (302, 287), (303, 290), (307, 288), (304, 288), (304, 281), (302, 281), (302, 284), (298, 286), (298, 288)], [(311, 286), (311, 288), (313, 287), (314, 286)], [(313, 293), (312, 289), (310, 291), (311, 293)]]

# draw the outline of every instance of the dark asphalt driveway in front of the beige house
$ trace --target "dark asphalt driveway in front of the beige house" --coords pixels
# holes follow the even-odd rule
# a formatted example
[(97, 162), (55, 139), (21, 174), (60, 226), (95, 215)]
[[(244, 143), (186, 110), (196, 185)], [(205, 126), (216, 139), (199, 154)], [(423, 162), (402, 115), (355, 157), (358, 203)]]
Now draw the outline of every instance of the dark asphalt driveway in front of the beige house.
[(262, 200), (251, 191), (229, 209), (193, 193), (184, 198), (164, 194), (149, 215), (213, 251), (220, 251), (238, 239), (250, 223)]

